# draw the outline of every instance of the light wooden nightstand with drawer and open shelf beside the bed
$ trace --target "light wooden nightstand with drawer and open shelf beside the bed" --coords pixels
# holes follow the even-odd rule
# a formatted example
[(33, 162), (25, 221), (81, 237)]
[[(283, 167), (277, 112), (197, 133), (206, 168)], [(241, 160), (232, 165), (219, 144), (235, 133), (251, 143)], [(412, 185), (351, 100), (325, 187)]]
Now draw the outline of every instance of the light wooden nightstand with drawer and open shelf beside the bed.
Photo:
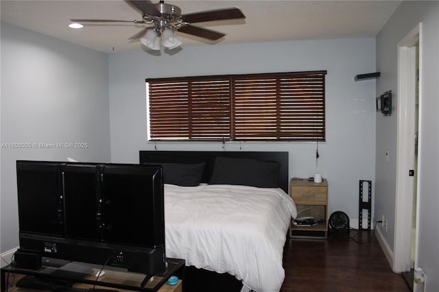
[(328, 181), (316, 183), (307, 178), (292, 178), (289, 182), (289, 195), (296, 203), (297, 217), (313, 217), (318, 221), (313, 226), (300, 226), (292, 223), (289, 236), (326, 239), (328, 236)]

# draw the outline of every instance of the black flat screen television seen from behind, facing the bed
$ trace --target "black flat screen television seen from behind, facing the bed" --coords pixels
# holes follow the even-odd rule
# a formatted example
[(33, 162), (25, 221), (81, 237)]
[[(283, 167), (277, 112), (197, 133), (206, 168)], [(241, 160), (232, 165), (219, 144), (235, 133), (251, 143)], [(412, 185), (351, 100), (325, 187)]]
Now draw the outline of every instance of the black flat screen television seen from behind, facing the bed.
[(165, 271), (160, 165), (18, 160), (16, 173), (21, 251)]

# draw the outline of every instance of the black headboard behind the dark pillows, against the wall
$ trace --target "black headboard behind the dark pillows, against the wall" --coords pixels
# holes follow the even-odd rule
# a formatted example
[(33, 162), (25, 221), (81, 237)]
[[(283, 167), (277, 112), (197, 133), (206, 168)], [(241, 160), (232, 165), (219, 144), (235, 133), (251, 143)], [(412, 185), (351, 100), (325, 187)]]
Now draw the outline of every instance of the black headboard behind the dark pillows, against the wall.
[(139, 151), (139, 162), (174, 162), (195, 164), (206, 162), (202, 182), (209, 182), (215, 157), (252, 158), (263, 161), (276, 161), (281, 164), (278, 176), (278, 186), (288, 193), (288, 152), (287, 151)]

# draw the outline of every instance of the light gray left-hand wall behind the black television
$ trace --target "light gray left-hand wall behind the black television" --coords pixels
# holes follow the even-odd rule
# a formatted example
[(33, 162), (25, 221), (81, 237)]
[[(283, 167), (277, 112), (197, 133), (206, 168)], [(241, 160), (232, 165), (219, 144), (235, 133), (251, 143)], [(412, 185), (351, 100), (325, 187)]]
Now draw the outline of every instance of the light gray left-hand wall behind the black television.
[(16, 160), (109, 161), (109, 125), (105, 53), (1, 23), (2, 253), (19, 245)]

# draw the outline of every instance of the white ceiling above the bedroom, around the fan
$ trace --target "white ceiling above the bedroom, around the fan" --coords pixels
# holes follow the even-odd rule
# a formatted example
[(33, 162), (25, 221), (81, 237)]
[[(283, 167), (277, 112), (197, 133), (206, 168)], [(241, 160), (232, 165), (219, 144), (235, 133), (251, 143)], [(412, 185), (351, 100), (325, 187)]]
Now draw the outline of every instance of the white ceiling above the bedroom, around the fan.
[[(158, 0), (153, 0), (154, 3)], [(362, 38), (376, 36), (401, 1), (213, 1), (169, 0), (182, 14), (238, 7), (245, 20), (197, 23), (224, 32), (217, 43)], [(1, 21), (12, 23), (98, 51), (141, 49), (128, 40), (141, 25), (86, 25), (67, 27), (69, 19), (141, 20), (141, 15), (123, 0), (95, 1), (0, 1)], [(178, 33), (182, 47), (214, 45), (202, 38)]]

